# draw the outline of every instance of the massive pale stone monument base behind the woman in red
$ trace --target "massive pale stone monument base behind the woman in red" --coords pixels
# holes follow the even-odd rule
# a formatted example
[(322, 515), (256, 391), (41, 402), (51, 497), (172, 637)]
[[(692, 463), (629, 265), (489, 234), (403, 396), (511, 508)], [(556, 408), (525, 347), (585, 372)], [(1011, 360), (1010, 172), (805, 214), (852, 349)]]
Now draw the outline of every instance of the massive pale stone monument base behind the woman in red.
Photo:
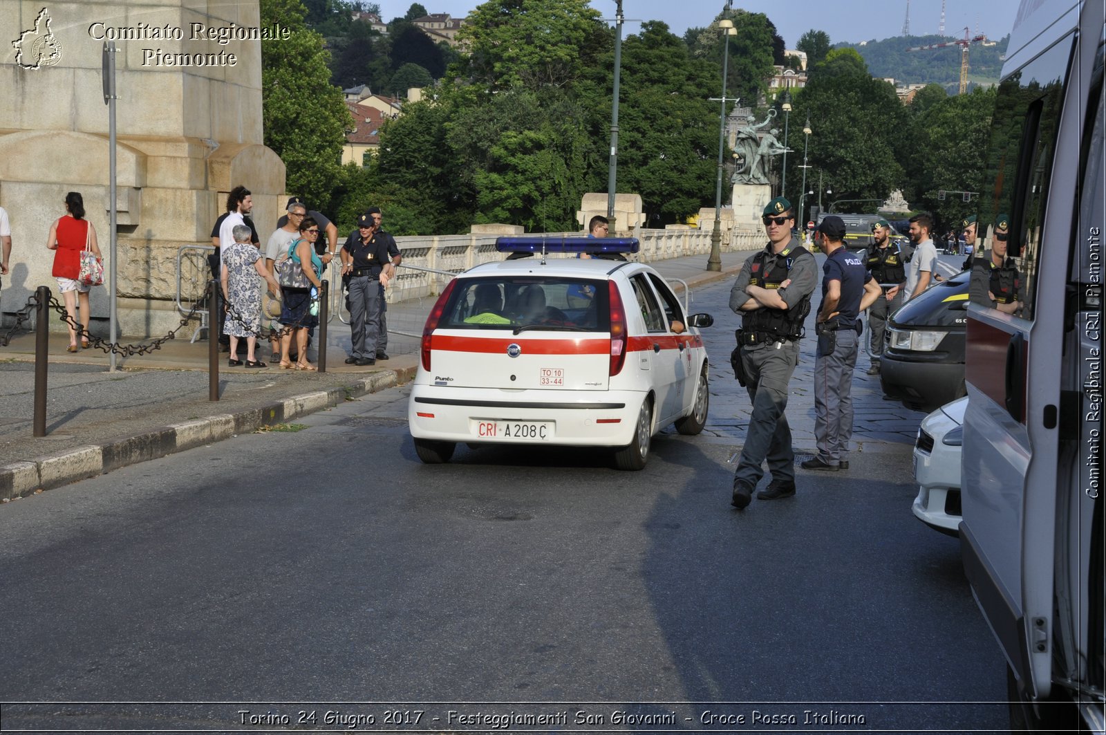
[[(126, 335), (176, 327), (176, 258), (210, 245), (227, 193), (253, 193), (264, 240), (282, 211), (284, 164), (263, 144), (257, 2), (215, 0), (6, 0), (0, 28), (0, 206), (12, 226), (12, 311), (40, 284), (56, 289), (50, 225), (66, 191), (84, 197), (108, 250), (108, 118), (102, 90), (105, 40), (116, 55), (118, 307)], [(272, 29), (269, 29), (272, 32)], [(279, 32), (279, 29), (278, 29)], [(218, 40), (226, 34), (226, 42)], [(179, 37), (179, 38), (178, 38)], [(213, 38), (212, 38), (213, 37)], [(242, 38), (246, 37), (246, 38)], [(13, 45), (12, 42), (17, 42)], [(105, 263), (106, 265), (106, 263)], [(105, 288), (92, 291), (106, 319)], [(55, 329), (64, 325), (54, 324)], [(94, 332), (97, 330), (94, 321)]]

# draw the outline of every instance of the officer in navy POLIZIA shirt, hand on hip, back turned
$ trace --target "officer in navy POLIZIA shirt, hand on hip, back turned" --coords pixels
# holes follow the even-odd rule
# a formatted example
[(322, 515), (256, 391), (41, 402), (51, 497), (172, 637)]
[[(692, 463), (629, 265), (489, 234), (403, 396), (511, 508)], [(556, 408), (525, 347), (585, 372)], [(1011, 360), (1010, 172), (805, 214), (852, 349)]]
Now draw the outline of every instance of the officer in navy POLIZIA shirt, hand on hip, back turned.
[(877, 299), (884, 300), (883, 290), (865, 269), (864, 260), (845, 248), (845, 231), (844, 220), (830, 215), (823, 218), (815, 235), (826, 253), (822, 266), (822, 302), (814, 320), (818, 335), (814, 358), (814, 441), (818, 453), (800, 465), (803, 469), (848, 469), (859, 314)]

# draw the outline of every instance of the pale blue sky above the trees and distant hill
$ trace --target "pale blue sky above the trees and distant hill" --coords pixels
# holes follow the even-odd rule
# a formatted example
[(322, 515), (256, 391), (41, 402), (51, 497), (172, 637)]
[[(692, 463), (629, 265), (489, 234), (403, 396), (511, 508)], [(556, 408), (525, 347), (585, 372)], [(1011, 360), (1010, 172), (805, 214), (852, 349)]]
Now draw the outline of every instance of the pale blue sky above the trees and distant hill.
[[(420, 0), (431, 13), (446, 12), (463, 18), (477, 0)], [(407, 13), (410, 0), (379, 0), (385, 21)], [(614, 0), (591, 0), (592, 7), (613, 18)], [(1010, 32), (1018, 12), (1016, 0), (946, 0), (945, 33), (959, 37), (967, 25), (974, 35), (977, 28), (989, 38), (1001, 39)], [(623, 0), (626, 18), (662, 20), (678, 35), (689, 25), (707, 25), (724, 6), (724, 0)], [(899, 35), (906, 18), (907, 0), (733, 0), (734, 8), (765, 13), (775, 23), (787, 48), (812, 28), (838, 41), (867, 41)], [(910, 33), (937, 33), (941, 20), (941, 0), (910, 0)], [(637, 23), (626, 24), (634, 33)]]

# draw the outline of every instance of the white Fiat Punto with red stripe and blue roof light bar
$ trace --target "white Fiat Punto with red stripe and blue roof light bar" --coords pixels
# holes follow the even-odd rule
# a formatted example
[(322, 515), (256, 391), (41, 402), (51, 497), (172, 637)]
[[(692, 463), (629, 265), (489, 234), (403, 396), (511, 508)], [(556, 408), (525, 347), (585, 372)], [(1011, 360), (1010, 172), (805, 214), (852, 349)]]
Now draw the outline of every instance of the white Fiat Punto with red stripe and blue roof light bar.
[[(422, 331), (407, 406), (422, 462), (458, 442), (606, 446), (640, 469), (654, 434), (707, 422), (707, 351), (653, 268), (624, 259), (626, 238), (499, 238), (511, 256), (460, 273)], [(549, 258), (581, 252), (591, 259)]]

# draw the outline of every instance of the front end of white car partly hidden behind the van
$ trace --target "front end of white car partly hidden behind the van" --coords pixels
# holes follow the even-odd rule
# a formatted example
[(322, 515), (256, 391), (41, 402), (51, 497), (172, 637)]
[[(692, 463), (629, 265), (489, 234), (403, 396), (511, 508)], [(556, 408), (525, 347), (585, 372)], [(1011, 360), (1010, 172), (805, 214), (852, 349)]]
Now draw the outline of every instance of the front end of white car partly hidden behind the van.
[(926, 416), (914, 445), (914, 478), (918, 482), (914, 515), (949, 536), (960, 536), (960, 445), (967, 408), (964, 396)]

